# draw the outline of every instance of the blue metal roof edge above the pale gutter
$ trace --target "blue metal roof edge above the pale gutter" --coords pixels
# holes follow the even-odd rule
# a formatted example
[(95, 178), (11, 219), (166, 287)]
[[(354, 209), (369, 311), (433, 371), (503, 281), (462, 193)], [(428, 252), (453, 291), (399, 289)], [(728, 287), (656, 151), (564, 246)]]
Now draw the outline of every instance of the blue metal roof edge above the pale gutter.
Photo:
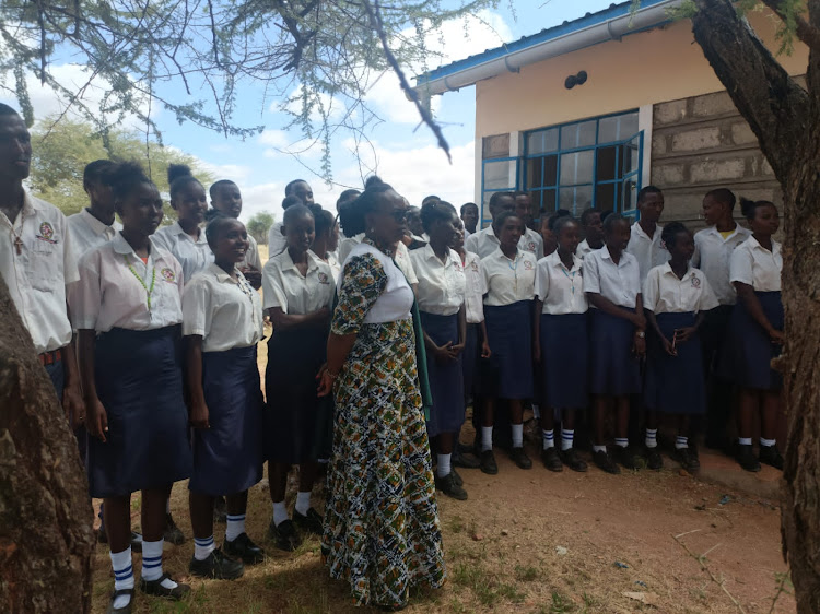
[[(665, 0), (642, 0), (641, 9), (660, 4), (664, 1)], [(606, 23), (609, 20), (628, 15), (631, 4), (631, 1), (610, 4), (608, 9), (604, 9), (602, 11), (598, 11), (597, 13), (586, 13), (583, 17), (578, 17), (572, 21), (565, 21), (560, 25), (542, 29), (537, 34), (523, 36), (518, 40), (514, 40), (512, 43), (505, 43), (504, 45), (502, 45), (501, 47), (496, 47), (495, 49), (488, 49), (482, 54), (477, 54), (475, 56), (465, 58), (464, 60), (458, 60), (453, 63), (438, 67), (417, 76), (417, 87), (436, 79), (450, 76), (462, 70), (481, 66), (485, 62), (503, 58), (504, 56), (508, 56), (509, 54), (522, 51), (529, 47), (547, 43), (548, 40), (553, 40), (555, 38), (566, 36), (567, 34), (573, 34), (587, 27), (591, 27), (600, 23)]]

